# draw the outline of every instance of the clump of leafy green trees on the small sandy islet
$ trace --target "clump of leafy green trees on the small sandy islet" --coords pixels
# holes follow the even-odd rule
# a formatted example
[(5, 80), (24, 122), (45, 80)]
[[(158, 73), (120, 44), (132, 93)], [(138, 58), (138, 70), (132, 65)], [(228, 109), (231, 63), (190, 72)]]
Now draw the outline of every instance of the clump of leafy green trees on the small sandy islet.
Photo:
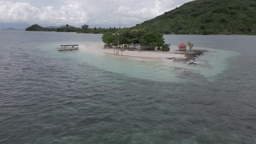
[(103, 34), (102, 41), (108, 46), (118, 46), (119, 41), (119, 45), (142, 44), (147, 46), (164, 47), (163, 51), (170, 51), (169, 47), (167, 46), (167, 49), (166, 45), (164, 45), (164, 35), (158, 32), (148, 31), (147, 29), (131, 30), (130, 28), (122, 28), (115, 34), (112, 34), (111, 32)]

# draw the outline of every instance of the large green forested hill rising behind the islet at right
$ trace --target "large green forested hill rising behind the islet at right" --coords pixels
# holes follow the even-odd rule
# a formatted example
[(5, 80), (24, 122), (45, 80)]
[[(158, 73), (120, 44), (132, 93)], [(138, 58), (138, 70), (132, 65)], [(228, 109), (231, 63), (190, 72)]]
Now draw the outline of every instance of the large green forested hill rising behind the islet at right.
[(256, 34), (256, 0), (196, 0), (133, 27), (165, 34)]

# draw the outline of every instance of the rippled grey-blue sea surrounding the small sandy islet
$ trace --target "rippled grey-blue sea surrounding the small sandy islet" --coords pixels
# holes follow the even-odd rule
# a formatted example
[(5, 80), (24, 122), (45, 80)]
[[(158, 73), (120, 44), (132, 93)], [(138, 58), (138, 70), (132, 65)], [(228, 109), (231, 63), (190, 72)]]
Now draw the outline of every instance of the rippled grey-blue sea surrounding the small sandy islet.
[(236, 54), (172, 71), (55, 49), (100, 34), (0, 31), (0, 143), (256, 143), (256, 37), (165, 39)]

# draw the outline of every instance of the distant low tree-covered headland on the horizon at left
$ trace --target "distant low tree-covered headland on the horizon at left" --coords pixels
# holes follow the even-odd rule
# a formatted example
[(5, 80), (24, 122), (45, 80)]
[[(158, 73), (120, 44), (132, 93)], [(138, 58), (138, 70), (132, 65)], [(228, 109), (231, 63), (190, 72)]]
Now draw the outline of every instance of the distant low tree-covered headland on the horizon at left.
[(26, 28), (26, 31), (51, 31), (51, 32), (77, 32), (77, 33), (106, 33), (111, 32), (115, 33), (118, 31), (118, 28), (89, 28), (88, 25), (83, 25), (81, 28), (73, 27), (70, 25), (62, 26), (59, 28), (45, 28), (39, 25), (32, 25), (31, 27)]

